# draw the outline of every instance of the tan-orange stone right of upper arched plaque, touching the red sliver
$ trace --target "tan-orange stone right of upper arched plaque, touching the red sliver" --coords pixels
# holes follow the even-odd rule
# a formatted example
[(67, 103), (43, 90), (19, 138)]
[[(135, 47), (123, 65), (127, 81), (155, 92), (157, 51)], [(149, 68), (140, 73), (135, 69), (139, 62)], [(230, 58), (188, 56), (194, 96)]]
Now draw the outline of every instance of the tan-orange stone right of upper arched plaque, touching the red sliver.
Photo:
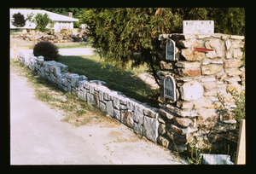
[(181, 49), (181, 55), (183, 55), (187, 61), (202, 61), (205, 58), (205, 53), (191, 49)]

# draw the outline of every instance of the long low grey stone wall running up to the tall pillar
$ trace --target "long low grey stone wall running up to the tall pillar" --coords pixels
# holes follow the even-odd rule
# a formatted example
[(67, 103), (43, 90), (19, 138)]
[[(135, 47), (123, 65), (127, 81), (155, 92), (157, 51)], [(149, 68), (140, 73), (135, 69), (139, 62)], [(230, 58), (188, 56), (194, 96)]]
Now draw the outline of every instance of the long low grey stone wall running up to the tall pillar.
[(62, 90), (75, 92), (85, 102), (107, 112), (152, 142), (157, 142), (159, 109), (131, 99), (119, 91), (110, 90), (101, 80), (89, 81), (84, 75), (68, 73), (66, 65), (44, 61), (43, 56), (23, 55), (19, 52), (17, 58), (40, 77), (47, 78)]

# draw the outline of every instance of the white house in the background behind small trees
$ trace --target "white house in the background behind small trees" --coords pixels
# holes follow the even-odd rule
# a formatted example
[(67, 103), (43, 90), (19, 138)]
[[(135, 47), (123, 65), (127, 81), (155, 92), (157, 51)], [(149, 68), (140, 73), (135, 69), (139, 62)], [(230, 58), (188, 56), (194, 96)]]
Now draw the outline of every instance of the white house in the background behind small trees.
[[(75, 19), (73, 17), (69, 17), (67, 15), (61, 15), (61, 14), (55, 14), (46, 10), (41, 9), (10, 9), (10, 29), (17, 28), (16, 26), (12, 25), (13, 20), (13, 14), (19, 13), (24, 15), (24, 18), (26, 19), (27, 14), (33, 13), (33, 17), (37, 14), (48, 14), (49, 18), (54, 21), (54, 26), (52, 29), (55, 30), (55, 32), (61, 32), (61, 29), (73, 29), (73, 22), (79, 21), (78, 19)], [(67, 13), (68, 14), (68, 13)], [(69, 14), (70, 15), (70, 14)], [(26, 25), (22, 28), (26, 29), (34, 29), (36, 27), (35, 23), (31, 23), (30, 21), (26, 20)], [(48, 27), (49, 28), (49, 27)]]

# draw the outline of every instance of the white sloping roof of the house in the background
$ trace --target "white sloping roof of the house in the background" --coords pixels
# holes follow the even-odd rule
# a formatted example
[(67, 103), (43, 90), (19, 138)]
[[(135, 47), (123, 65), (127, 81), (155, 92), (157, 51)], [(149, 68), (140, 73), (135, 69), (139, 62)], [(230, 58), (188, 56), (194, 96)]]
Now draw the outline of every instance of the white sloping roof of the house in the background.
[(12, 18), (13, 14), (19, 13), (23, 14), (24, 17), (26, 18), (26, 14), (48, 14), (49, 18), (54, 21), (79, 21), (78, 19), (66, 16), (66, 15), (61, 15), (61, 14), (55, 14), (46, 10), (41, 10), (41, 9), (10, 9), (10, 19)]

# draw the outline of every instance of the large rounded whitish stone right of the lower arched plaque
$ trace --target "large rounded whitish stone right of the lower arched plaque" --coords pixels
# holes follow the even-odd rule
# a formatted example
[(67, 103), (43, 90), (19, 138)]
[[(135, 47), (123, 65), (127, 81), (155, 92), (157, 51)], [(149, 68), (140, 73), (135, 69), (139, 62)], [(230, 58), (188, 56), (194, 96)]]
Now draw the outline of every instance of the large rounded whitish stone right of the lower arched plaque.
[(186, 82), (180, 87), (180, 96), (184, 101), (193, 101), (201, 98), (203, 87), (195, 80)]

